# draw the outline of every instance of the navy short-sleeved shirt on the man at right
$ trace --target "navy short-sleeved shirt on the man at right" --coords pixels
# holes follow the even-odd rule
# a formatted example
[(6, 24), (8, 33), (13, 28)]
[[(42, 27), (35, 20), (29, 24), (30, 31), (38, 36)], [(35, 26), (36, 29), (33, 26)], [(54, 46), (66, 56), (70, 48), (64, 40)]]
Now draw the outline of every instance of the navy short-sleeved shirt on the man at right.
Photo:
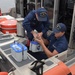
[(54, 33), (52, 33), (48, 37), (48, 41), (50, 41), (48, 48), (51, 52), (56, 50), (58, 53), (61, 53), (65, 50), (67, 50), (67, 48), (68, 48), (68, 42), (67, 42), (67, 39), (65, 38), (65, 35), (56, 39), (54, 36)]

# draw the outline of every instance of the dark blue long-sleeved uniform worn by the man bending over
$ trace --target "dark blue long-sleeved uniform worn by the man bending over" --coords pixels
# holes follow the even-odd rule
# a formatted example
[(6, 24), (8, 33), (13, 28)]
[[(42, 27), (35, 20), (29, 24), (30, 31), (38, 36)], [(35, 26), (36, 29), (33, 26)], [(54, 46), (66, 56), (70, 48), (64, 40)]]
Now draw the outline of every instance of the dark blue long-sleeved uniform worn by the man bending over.
[(36, 10), (32, 10), (25, 18), (23, 22), (23, 27), (27, 31), (27, 36), (29, 40), (33, 40), (33, 35), (31, 31), (36, 29), (38, 32), (43, 32), (43, 37), (47, 38), (46, 32), (49, 30), (50, 22), (47, 15), (47, 21), (38, 21), (36, 19)]

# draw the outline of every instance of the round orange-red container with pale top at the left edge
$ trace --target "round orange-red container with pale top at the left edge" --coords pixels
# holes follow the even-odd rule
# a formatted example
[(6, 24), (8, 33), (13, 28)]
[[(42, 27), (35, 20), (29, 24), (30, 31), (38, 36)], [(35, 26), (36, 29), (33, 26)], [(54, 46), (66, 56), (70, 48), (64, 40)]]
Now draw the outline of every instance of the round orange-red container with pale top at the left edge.
[(17, 33), (17, 21), (16, 20), (5, 20), (0, 23), (1, 31), (6, 33)]

